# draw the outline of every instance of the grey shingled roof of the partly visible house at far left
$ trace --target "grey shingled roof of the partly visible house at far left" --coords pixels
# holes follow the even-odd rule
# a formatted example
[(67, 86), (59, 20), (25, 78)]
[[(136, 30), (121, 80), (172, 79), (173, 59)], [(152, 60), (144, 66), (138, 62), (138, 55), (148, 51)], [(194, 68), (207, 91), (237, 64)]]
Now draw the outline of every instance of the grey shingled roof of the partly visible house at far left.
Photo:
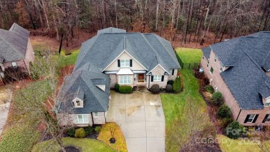
[(0, 56), (4, 62), (25, 58), (29, 31), (18, 24), (13, 24), (9, 31), (0, 29), (0, 35)]

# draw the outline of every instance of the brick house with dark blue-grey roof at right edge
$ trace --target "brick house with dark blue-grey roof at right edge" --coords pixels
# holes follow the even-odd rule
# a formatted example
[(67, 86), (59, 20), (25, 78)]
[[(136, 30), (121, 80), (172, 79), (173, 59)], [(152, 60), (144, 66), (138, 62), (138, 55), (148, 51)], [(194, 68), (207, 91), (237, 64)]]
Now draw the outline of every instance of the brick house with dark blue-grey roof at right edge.
[(270, 126), (270, 32), (226, 40), (202, 49), (210, 85), (222, 92), (233, 119)]

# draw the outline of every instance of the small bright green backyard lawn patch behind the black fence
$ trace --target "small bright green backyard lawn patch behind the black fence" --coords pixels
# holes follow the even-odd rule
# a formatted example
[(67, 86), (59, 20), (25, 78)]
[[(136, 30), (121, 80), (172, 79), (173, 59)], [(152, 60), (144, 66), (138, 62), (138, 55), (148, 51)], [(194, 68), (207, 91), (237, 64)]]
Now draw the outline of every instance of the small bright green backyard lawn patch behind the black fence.
[(183, 63), (201, 62), (201, 56), (202, 56), (201, 49), (178, 47), (175, 50), (177, 51), (177, 54), (179, 55)]

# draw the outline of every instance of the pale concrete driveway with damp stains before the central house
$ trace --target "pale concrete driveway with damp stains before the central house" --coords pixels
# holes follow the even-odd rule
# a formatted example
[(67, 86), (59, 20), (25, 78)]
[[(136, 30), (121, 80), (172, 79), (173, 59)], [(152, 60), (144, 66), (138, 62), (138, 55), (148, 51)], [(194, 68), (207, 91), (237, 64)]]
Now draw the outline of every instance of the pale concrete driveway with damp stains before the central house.
[(120, 126), (129, 152), (165, 151), (165, 117), (159, 94), (111, 91), (107, 121)]

